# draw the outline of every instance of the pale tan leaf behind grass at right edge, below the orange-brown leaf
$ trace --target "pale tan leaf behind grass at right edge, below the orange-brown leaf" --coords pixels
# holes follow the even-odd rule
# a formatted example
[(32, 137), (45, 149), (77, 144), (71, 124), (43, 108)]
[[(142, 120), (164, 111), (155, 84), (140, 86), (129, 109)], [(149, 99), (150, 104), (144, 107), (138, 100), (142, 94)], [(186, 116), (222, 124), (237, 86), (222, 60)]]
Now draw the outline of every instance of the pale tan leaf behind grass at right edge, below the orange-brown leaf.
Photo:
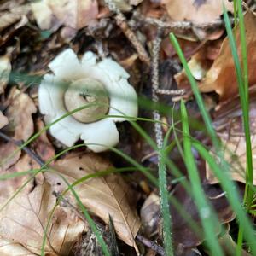
[[(235, 101), (236, 99), (234, 99)], [(236, 100), (237, 102), (237, 100)], [(239, 107), (239, 103), (237, 102)], [(253, 154), (253, 185), (256, 185), (256, 104), (251, 103), (250, 109), (250, 128)], [(218, 124), (218, 137), (224, 145), (224, 160), (230, 164), (230, 177), (241, 183), (246, 183), (246, 165), (247, 150), (246, 139), (243, 132), (241, 110), (231, 107), (231, 113), (228, 113), (229, 106), (225, 106), (222, 113), (222, 120), (215, 120)], [(218, 183), (210, 167), (207, 165), (207, 180), (209, 183)]]

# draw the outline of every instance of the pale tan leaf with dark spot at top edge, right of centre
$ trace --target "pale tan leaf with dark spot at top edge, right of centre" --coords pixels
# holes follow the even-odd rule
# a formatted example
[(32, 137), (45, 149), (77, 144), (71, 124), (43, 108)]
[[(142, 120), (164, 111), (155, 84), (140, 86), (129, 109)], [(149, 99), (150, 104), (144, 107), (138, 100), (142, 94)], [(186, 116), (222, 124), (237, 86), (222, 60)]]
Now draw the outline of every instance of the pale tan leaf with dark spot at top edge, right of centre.
[(189, 20), (195, 24), (211, 23), (223, 14), (223, 3), (233, 12), (228, 0), (162, 0), (172, 20)]

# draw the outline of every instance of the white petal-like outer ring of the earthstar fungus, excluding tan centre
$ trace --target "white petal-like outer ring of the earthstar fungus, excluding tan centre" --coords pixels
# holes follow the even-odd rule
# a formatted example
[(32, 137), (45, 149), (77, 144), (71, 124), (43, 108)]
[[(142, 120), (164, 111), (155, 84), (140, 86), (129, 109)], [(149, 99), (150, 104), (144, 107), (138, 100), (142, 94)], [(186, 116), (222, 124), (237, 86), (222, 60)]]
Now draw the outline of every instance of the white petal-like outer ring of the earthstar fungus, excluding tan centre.
[(45, 115), (45, 122), (49, 124), (67, 113), (64, 93), (69, 84), (84, 78), (102, 82), (110, 99), (108, 115), (122, 117), (109, 117), (84, 124), (72, 116), (67, 116), (49, 128), (51, 135), (67, 147), (73, 146), (81, 138), (88, 144), (88, 148), (101, 152), (119, 143), (119, 132), (115, 122), (125, 121), (125, 115), (137, 117), (137, 94), (128, 83), (129, 74), (123, 67), (109, 58), (102, 61), (96, 59), (97, 56), (90, 51), (79, 60), (72, 49), (64, 50), (49, 63), (49, 68), (54, 74), (44, 75), (39, 86), (38, 98), (40, 112)]

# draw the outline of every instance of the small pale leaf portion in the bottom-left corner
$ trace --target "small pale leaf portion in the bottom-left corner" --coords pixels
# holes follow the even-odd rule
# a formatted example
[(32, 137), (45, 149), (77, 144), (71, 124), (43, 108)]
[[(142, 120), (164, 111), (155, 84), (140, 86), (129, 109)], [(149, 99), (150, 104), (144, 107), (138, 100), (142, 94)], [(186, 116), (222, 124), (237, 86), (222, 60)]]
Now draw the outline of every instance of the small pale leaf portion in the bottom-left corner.
[(1, 256), (36, 256), (18, 242), (0, 237), (0, 255)]

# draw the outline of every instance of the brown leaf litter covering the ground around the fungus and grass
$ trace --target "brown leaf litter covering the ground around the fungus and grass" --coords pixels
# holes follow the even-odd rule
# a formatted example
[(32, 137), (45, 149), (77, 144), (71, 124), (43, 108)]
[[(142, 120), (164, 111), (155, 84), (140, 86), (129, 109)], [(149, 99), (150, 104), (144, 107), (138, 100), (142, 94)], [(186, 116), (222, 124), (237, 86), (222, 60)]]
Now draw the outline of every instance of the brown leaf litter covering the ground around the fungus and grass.
[[(232, 20), (233, 3), (224, 3)], [(253, 8), (250, 1), (247, 3)], [(163, 251), (158, 189), (139, 172), (111, 173), (118, 171), (118, 168), (131, 167), (127, 159), (110, 151), (93, 154), (85, 147), (63, 153), (62, 150), (67, 147), (51, 137), (48, 131), (42, 132), (26, 146), (26, 150), (17, 150), (20, 143), (26, 142), (45, 127), (44, 117), (38, 110), (38, 85), (41, 76), (49, 73), (49, 62), (67, 48), (73, 49), (79, 57), (84, 52), (92, 51), (97, 55), (97, 61), (112, 58), (129, 73), (129, 82), (137, 90), (137, 95), (150, 99), (152, 81), (148, 65), (155, 68), (152, 64), (155, 57), (152, 55), (152, 45), (154, 40), (161, 40), (160, 68), (157, 70), (160, 75), (158, 93), (160, 103), (165, 103), (168, 108), (166, 112), (161, 112), (162, 120), (168, 125), (180, 121), (178, 115), (171, 118), (171, 110), (174, 108), (175, 113), (179, 112), (179, 104), (176, 102), (183, 97), (187, 101), (190, 119), (201, 122), (188, 79), (168, 39), (169, 32), (175, 32), (191, 72), (198, 81), (207, 109), (212, 114), (214, 129), (223, 144), (224, 159), (231, 166), (230, 177), (238, 182), (243, 195), (246, 143), (236, 70), (224, 32), (222, 8), (222, 1), (198, 0), (40, 0), (30, 3), (11, 0), (0, 3), (0, 174), (3, 176), (0, 180), (1, 255), (39, 255), (44, 232), (45, 255), (102, 255), (101, 246), (71, 191), (63, 195), (56, 205), (61, 193), (67, 189), (67, 183), (60, 174), (71, 184), (84, 178), (73, 189), (90, 212), (113, 255), (119, 255), (120, 252), (123, 255), (143, 252), (145, 255), (161, 255)], [(256, 115), (253, 101), (256, 87), (253, 67), (256, 19), (249, 10), (244, 19), (249, 53), (250, 126), (254, 164)], [(162, 29), (161, 33), (159, 29)], [(234, 28), (234, 35), (241, 59), (238, 27)], [(108, 72), (111, 75), (114, 71), (109, 69)], [(35, 79), (37, 76), (39, 79)], [(179, 89), (185, 90), (185, 96), (178, 94)], [(153, 119), (150, 109), (142, 106), (139, 117)], [(137, 124), (155, 139), (153, 125), (143, 121)], [(132, 130), (128, 122), (119, 123), (117, 128), (119, 144), (116, 150), (131, 156), (157, 177), (158, 160), (154, 148), (150, 147), (141, 134)], [(177, 138), (182, 140), (178, 132), (180, 126), (176, 128), (177, 134), (172, 133), (170, 136), (170, 145)], [(162, 125), (161, 129), (166, 134), (166, 126)], [(203, 129), (192, 125), (191, 130), (193, 137), (201, 140), (214, 156), (211, 143), (201, 131)], [(168, 150), (168, 157), (179, 167), (183, 178), (186, 178), (188, 174), (182, 153), (175, 144)], [(233, 231), (236, 228), (233, 221), (236, 213), (231, 210), (225, 192), (220, 189), (211, 168), (194, 153), (204, 192), (220, 221), (219, 227), (216, 227), (216, 236), (226, 254), (231, 255), (236, 247)], [(57, 154), (61, 156), (55, 159)], [(48, 160), (51, 160), (48, 168), (36, 177), (32, 173), (19, 176), (20, 172), (38, 170)], [(253, 166), (255, 171), (255, 164)], [(138, 171), (138, 166), (135, 169)], [(110, 173), (101, 175), (104, 171)], [(85, 179), (88, 175), (91, 177)], [(26, 186), (23, 187), (24, 183)], [(201, 230), (198, 210), (191, 195), (172, 172), (168, 172), (167, 183), (169, 194), (182, 204), (183, 211)], [(253, 184), (256, 184), (255, 177)], [(170, 211), (176, 255), (207, 253), (201, 247), (205, 241), (200, 236), (202, 233), (196, 233), (172, 203)], [(47, 224), (49, 227), (46, 230)], [(221, 228), (224, 227), (223, 233)], [(113, 233), (116, 233), (117, 239), (113, 238)], [(243, 254), (248, 255), (245, 251)]]

